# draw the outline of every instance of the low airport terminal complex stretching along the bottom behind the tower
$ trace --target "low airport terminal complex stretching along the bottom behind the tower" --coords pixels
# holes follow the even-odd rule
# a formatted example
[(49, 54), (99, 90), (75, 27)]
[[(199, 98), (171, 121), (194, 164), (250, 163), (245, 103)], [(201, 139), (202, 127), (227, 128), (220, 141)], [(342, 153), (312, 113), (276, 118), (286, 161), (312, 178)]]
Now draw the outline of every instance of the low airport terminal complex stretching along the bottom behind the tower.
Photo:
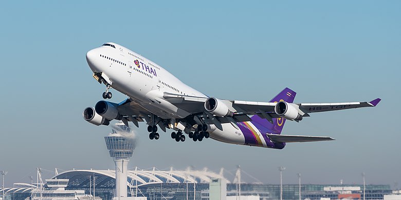
[[(59, 173), (52, 177), (52, 179), (68, 180), (68, 183), (63, 186), (65, 187), (63, 193), (74, 196), (71, 199), (84, 200), (85, 196), (83, 193), (85, 195), (93, 195), (95, 192), (95, 196), (99, 196), (104, 200), (111, 200), (115, 196), (115, 176), (114, 170), (70, 170)], [(213, 179), (224, 179), (227, 182), (227, 196), (238, 196), (238, 184), (231, 183), (223, 175), (208, 170), (132, 170), (127, 172), (126, 189), (127, 195), (133, 197), (143, 196), (148, 199), (194, 199), (195, 195), (195, 199), (208, 200), (209, 183)], [(32, 191), (38, 195), (38, 189), (35, 186), (30, 186), (30, 184), (15, 186), (15, 188), (5, 188), (5, 200), (30, 199)], [(42, 193), (47, 194), (52, 189), (48, 184), (45, 184), (43, 188)], [(2, 194), (2, 190), (0, 189), (0, 195)], [(365, 198), (385, 199), (386, 195), (393, 193), (394, 191), (391, 190), (390, 185), (367, 185)], [(258, 196), (261, 200), (280, 199), (280, 185), (242, 183), (241, 195), (244, 197)], [(320, 200), (329, 198), (363, 199), (363, 186), (301, 185), (301, 199)], [(283, 185), (283, 199), (299, 199), (299, 185)]]

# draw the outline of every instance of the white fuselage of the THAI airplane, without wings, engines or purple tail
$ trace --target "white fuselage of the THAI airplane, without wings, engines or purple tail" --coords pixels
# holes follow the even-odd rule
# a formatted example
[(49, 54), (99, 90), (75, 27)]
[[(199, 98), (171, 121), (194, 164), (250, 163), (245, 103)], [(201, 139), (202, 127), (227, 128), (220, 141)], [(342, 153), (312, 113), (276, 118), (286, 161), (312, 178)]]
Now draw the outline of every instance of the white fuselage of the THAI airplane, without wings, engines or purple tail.
[[(149, 112), (163, 119), (185, 118), (190, 115), (187, 111), (166, 101), (163, 98), (165, 92), (207, 97), (140, 54), (115, 43), (106, 44), (109, 46), (101, 46), (87, 52), (86, 58), (90, 69), (94, 73), (101, 72), (102, 76), (105, 75), (108, 78), (112, 88), (129, 96)], [(243, 132), (230, 123), (222, 124), (222, 126), (224, 131), (215, 127), (208, 130), (210, 137), (225, 143), (254, 146), (246, 144)], [(260, 130), (254, 128), (253, 131), (254, 134), (263, 138)], [(255, 146), (267, 147), (266, 144)]]

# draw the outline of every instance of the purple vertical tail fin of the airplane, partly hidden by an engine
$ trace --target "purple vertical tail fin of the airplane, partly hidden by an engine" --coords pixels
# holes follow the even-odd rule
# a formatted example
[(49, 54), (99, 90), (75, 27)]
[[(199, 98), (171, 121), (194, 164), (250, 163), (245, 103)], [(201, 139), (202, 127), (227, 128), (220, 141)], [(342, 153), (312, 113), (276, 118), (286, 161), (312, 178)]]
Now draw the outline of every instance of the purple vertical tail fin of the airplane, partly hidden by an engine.
[[(293, 103), (295, 95), (297, 93), (289, 88), (285, 88), (279, 94), (277, 94), (274, 98), (270, 100), (270, 102), (280, 102), (285, 101), (288, 103)], [(258, 115), (253, 115), (251, 117), (252, 121), (256, 121), (256, 123), (262, 125), (267, 130), (272, 131), (272, 134), (280, 134), (283, 130), (285, 118), (273, 118), (273, 124), (267, 121), (267, 119), (262, 119)], [(263, 123), (261, 123), (263, 121)]]

